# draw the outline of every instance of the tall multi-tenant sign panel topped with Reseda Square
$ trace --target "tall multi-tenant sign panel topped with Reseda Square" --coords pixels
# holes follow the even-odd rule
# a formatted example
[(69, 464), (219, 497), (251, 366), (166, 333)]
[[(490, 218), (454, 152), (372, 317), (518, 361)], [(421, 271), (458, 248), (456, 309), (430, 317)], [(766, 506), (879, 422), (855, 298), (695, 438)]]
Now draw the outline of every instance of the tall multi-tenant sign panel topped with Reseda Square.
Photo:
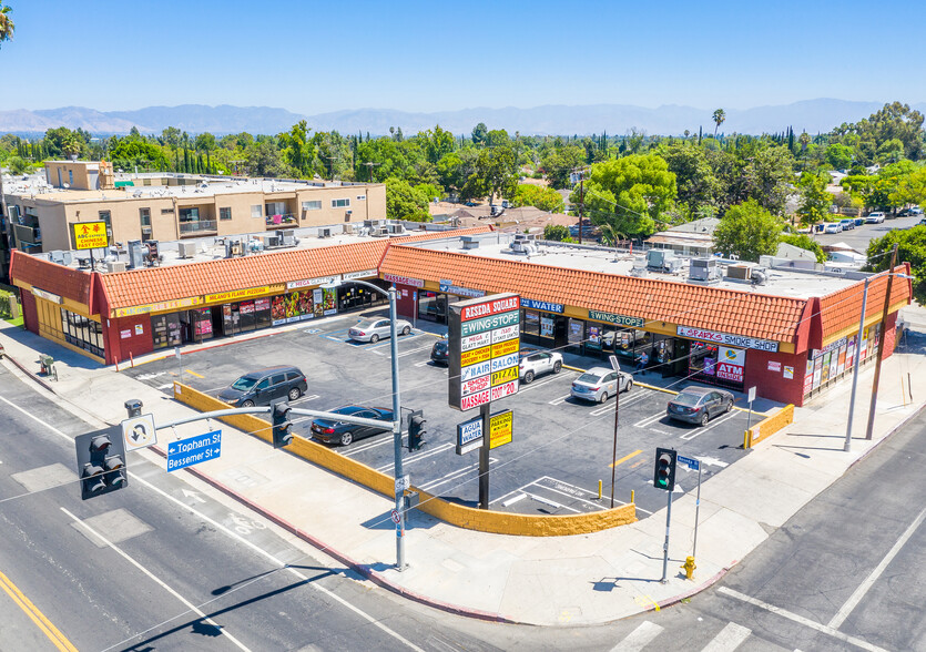
[(517, 394), (520, 297), (498, 294), (449, 308), (450, 407), (469, 410)]

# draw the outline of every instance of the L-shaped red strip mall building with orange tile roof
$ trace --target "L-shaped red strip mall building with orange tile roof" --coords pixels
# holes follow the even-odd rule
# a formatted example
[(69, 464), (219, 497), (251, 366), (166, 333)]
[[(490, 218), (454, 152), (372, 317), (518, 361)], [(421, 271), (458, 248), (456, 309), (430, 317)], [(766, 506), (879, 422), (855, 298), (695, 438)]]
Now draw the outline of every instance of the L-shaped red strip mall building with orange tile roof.
[[(11, 276), (27, 328), (101, 364), (384, 303), (350, 283), (366, 279), (397, 288), (401, 316), (438, 323), (457, 300), (517, 293), (525, 344), (606, 365), (611, 355), (633, 361), (647, 353), (663, 376), (755, 386), (761, 397), (798, 406), (853, 367), (861, 277), (777, 266), (760, 286), (732, 272), (714, 283), (683, 273), (639, 277), (629, 255), (570, 246), (523, 255), (510, 237), (486, 227), (426, 232), (113, 273), (13, 252)], [(339, 287), (323, 287), (335, 279)], [(912, 297), (910, 282), (895, 277), (883, 335), (886, 289), (886, 276), (868, 286), (863, 363), (882, 336), (891, 355), (897, 310)]]

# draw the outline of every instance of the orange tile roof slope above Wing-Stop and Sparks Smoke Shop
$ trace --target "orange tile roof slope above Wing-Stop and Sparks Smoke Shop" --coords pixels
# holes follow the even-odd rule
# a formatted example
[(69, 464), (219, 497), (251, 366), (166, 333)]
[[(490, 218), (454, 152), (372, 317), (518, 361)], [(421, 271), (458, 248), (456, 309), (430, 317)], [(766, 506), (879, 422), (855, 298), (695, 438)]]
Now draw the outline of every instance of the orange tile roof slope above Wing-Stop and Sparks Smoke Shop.
[(394, 245), (380, 273), (795, 343), (806, 299)]

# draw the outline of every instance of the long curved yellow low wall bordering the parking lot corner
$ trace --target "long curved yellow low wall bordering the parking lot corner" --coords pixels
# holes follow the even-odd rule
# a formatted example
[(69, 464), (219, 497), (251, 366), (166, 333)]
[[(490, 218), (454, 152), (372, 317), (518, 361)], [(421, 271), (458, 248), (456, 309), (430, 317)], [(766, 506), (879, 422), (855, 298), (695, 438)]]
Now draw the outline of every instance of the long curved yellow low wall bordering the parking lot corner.
[[(174, 399), (200, 411), (227, 409), (228, 407), (221, 400), (180, 383), (174, 383)], [(231, 415), (220, 417), (220, 420), (252, 437), (257, 437), (267, 442), (273, 440), (271, 425), (264, 419), (252, 415)], [(286, 451), (344, 476), (378, 493), (390, 498), (395, 496), (395, 480), (390, 476), (339, 455), (316, 441), (295, 436), (293, 437), (293, 444), (286, 448)], [(416, 490), (419, 492), (421, 500), (417, 509), (451, 526), (478, 532), (520, 537), (559, 537), (589, 534), (637, 521), (637, 506), (634, 503), (589, 513), (533, 516), (474, 509), (456, 502), (448, 502), (420, 489)]]

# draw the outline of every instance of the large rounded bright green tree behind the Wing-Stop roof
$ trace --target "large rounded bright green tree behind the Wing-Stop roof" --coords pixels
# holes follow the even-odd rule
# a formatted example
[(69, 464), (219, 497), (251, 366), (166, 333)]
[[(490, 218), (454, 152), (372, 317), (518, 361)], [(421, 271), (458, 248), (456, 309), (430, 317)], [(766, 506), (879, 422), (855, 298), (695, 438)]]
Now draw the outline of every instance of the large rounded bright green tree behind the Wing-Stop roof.
[[(596, 163), (586, 181), (587, 213), (596, 224), (609, 224), (630, 236), (648, 236), (675, 200), (675, 174), (657, 154), (630, 154)], [(579, 203), (579, 189), (569, 196)]]

